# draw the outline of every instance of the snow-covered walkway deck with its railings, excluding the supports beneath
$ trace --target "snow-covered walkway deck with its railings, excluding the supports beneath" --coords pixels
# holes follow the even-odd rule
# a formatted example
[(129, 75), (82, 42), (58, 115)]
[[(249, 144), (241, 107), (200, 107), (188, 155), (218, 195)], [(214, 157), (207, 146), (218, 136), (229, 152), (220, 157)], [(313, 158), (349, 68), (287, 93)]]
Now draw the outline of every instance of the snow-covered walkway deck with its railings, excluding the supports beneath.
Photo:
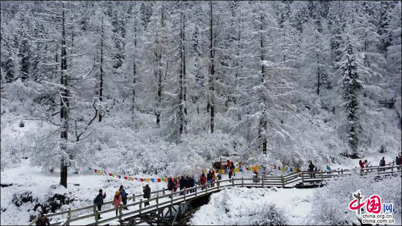
[[(384, 166), (384, 167), (367, 167), (362, 169), (342, 169), (342, 170), (332, 170), (332, 171), (302, 171), (298, 173), (291, 173), (285, 176), (277, 177), (259, 177), (259, 178), (232, 178), (228, 180), (221, 180), (215, 183), (214, 187), (211, 185), (199, 185), (191, 189), (186, 189), (182, 191), (177, 191), (174, 193), (166, 192), (164, 190), (152, 192), (154, 197), (149, 200), (143, 200), (142, 195), (135, 195), (129, 198), (128, 201), (132, 200), (125, 206), (120, 206), (119, 208), (109, 208), (100, 211), (102, 219), (97, 219), (97, 209), (94, 205), (84, 206), (81, 208), (70, 209), (69, 211), (57, 212), (46, 214), (45, 216), (51, 217), (56, 215), (66, 215), (64, 221), (52, 222), (51, 225), (105, 225), (105, 224), (115, 224), (118, 221), (124, 222), (133, 218), (141, 217), (145, 214), (152, 212), (157, 212), (158, 210), (163, 210), (165, 208), (179, 205), (180, 203), (193, 200), (198, 197), (205, 195), (210, 195), (212, 193), (218, 192), (221, 189), (227, 187), (283, 187), (291, 188), (296, 187), (298, 184), (309, 185), (322, 183), (324, 180), (329, 178), (336, 178), (342, 176), (350, 176), (352, 174), (366, 175), (369, 173), (377, 174), (397, 174), (401, 173), (401, 168), (398, 166)], [(313, 175), (313, 178), (312, 178)], [(315, 177), (314, 177), (315, 176)], [(186, 193), (187, 190), (193, 190), (192, 193)], [(185, 195), (180, 195), (180, 192), (184, 192)], [(170, 196), (172, 195), (172, 196)], [(149, 206), (144, 207), (144, 202), (148, 201)], [(103, 207), (109, 207), (111, 202), (106, 202)], [(130, 208), (130, 210), (123, 210), (124, 207)], [(116, 209), (118, 210), (118, 216), (116, 216)], [(72, 213), (74, 216), (72, 217)], [(33, 220), (29, 225), (33, 225), (37, 219)]]

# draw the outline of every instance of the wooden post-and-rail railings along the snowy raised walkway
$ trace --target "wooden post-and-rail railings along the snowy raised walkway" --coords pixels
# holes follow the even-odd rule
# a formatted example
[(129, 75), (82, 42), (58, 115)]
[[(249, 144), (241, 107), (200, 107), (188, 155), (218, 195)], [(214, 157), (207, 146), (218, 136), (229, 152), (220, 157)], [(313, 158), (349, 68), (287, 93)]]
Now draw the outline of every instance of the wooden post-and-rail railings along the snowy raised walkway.
[[(107, 221), (111, 221), (114, 219), (122, 220), (123, 217), (133, 217), (136, 215), (143, 215), (148, 212), (152, 212), (161, 208), (166, 208), (173, 204), (178, 204), (181, 202), (185, 202), (186, 200), (194, 199), (199, 196), (204, 196), (211, 194), (213, 192), (217, 192), (226, 187), (234, 187), (234, 186), (241, 186), (241, 187), (294, 187), (294, 185), (298, 183), (314, 183), (324, 181), (331, 177), (338, 177), (338, 176), (348, 176), (352, 175), (353, 173), (360, 173), (360, 175), (368, 174), (376, 172), (378, 174), (393, 174), (395, 172), (400, 173), (402, 172), (400, 166), (394, 166), (394, 162), (390, 162), (387, 166), (379, 167), (367, 167), (367, 168), (354, 168), (354, 169), (338, 169), (338, 170), (321, 170), (321, 171), (300, 171), (297, 173), (290, 173), (287, 175), (282, 176), (267, 176), (267, 177), (258, 177), (258, 178), (232, 178), (226, 180), (219, 180), (214, 183), (214, 187), (211, 184), (206, 185), (197, 185), (192, 188), (186, 188), (184, 190), (176, 191), (171, 193), (170, 191), (166, 192), (167, 189), (162, 189), (158, 191), (151, 192), (154, 194), (154, 197), (150, 199), (143, 200), (142, 194), (133, 195), (128, 198), (128, 200), (133, 200), (133, 203), (122, 205), (118, 208), (111, 208), (106, 209), (103, 211), (99, 211), (96, 209), (96, 205), (87, 205), (80, 208), (75, 209), (68, 209), (67, 211), (61, 211), (56, 213), (49, 213), (45, 214), (46, 217), (52, 216), (60, 216), (60, 215), (67, 215), (67, 219), (59, 222), (54, 222), (51, 225), (69, 225), (71, 222), (78, 221), (81, 219), (91, 218), (93, 217), (93, 222), (90, 224), (100, 224), (105, 223)], [(313, 177), (313, 178), (312, 178)], [(191, 193), (187, 194), (187, 191), (192, 191)], [(183, 192), (182, 195), (180, 193)], [(139, 201), (138, 201), (139, 198)], [(164, 199), (164, 200), (162, 200)], [(143, 207), (144, 202), (153, 202), (152, 205), (147, 207)], [(105, 202), (104, 205), (112, 204), (113, 201)], [(123, 213), (123, 208), (130, 207), (130, 206), (138, 206), (137, 210)], [(92, 210), (91, 213), (87, 213), (84, 215), (79, 215), (77, 217), (72, 217), (72, 213), (83, 211), (83, 210)], [(104, 214), (108, 212), (113, 212), (118, 210), (118, 216), (99, 220), (98, 214)], [(38, 219), (40, 215), (38, 215), (33, 221), (30, 222), (29, 225), (33, 225)]]

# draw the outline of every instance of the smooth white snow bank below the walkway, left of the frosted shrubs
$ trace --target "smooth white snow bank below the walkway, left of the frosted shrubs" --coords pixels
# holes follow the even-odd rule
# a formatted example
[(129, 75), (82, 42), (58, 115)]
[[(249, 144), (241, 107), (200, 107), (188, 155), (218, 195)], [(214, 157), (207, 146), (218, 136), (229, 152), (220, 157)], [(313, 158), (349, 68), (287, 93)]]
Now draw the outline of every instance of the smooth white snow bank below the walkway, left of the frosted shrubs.
[(247, 222), (256, 206), (275, 204), (290, 225), (304, 221), (311, 211), (311, 195), (315, 189), (229, 188), (211, 195), (210, 202), (200, 207), (191, 219), (192, 225), (239, 225)]

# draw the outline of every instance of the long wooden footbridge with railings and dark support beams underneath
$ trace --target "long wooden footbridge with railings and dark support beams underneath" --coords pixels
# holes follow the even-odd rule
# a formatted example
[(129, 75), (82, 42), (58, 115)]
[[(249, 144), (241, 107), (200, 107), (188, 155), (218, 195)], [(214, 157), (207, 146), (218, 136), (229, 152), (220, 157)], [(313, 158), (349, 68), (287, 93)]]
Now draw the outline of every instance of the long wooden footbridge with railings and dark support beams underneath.
[[(189, 206), (191, 212), (191, 201), (200, 197), (211, 195), (229, 187), (283, 187), (283, 188), (304, 188), (311, 185), (322, 185), (322, 182), (334, 177), (350, 176), (352, 174), (378, 174), (378, 175), (397, 175), (401, 174), (401, 167), (394, 166), (394, 162), (388, 163), (383, 167), (367, 167), (341, 170), (321, 170), (321, 171), (301, 171), (298, 173), (290, 173), (282, 176), (265, 176), (257, 178), (232, 178), (219, 180), (207, 185), (198, 185), (192, 188), (184, 189), (171, 193), (166, 189), (151, 192), (153, 196), (150, 199), (142, 199), (142, 195), (134, 195), (128, 198), (132, 203), (122, 205), (118, 208), (110, 208), (102, 211), (96, 209), (96, 205), (83, 206), (76, 209), (68, 209), (67, 211), (45, 214), (51, 220), (52, 217), (63, 218), (64, 220), (52, 222), (51, 225), (108, 225), (119, 221), (121, 224), (136, 225), (142, 222), (152, 222), (163, 225), (173, 225), (175, 222), (175, 212), (179, 212), (179, 208), (183, 204)], [(182, 194), (180, 194), (182, 193)], [(144, 206), (145, 202), (149, 202), (148, 206)], [(105, 202), (104, 207), (110, 205), (112, 201)], [(129, 207), (130, 210), (123, 208)], [(179, 207), (179, 208), (177, 208)], [(116, 210), (118, 215), (116, 216)], [(98, 219), (98, 214), (103, 219)], [(29, 225), (35, 224), (40, 215), (38, 215)], [(52, 221), (52, 220), (51, 220)]]

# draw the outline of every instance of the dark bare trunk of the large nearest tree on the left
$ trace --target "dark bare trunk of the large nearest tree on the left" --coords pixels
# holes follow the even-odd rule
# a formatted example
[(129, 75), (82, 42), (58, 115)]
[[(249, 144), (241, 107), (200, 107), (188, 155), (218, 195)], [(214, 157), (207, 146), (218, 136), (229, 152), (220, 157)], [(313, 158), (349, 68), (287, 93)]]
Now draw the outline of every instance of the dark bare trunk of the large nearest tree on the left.
[[(63, 4), (64, 8), (64, 4)], [(67, 88), (68, 79), (65, 71), (67, 70), (67, 53), (66, 53), (66, 41), (65, 41), (65, 18), (64, 9), (62, 13), (62, 33), (61, 33), (61, 96), (60, 96), (60, 138), (61, 149), (67, 152), (67, 139), (68, 139), (68, 108), (69, 108), (69, 90)], [(67, 163), (64, 158), (61, 159), (60, 164), (60, 184), (67, 188)]]

